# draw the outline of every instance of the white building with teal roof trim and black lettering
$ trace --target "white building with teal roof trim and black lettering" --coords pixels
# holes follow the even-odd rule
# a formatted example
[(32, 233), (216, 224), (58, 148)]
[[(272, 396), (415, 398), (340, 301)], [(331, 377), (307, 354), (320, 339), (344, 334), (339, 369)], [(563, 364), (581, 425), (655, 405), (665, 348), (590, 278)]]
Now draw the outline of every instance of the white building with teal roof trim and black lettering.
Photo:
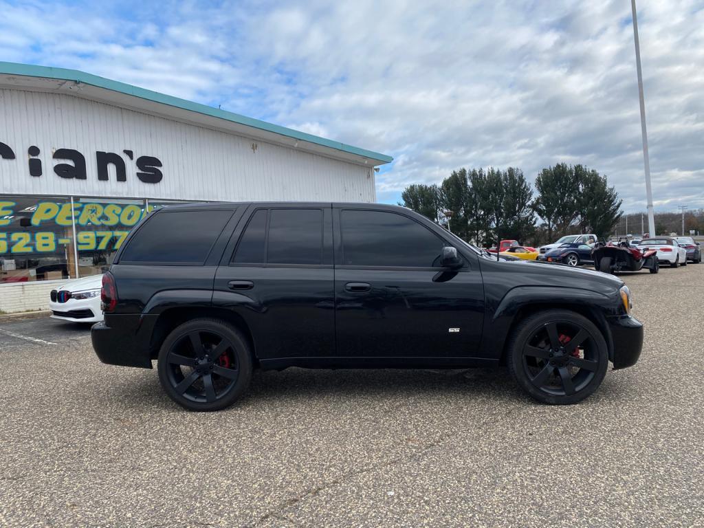
[(75, 70), (0, 62), (0, 310), (100, 273), (153, 208), (375, 201), (391, 157)]

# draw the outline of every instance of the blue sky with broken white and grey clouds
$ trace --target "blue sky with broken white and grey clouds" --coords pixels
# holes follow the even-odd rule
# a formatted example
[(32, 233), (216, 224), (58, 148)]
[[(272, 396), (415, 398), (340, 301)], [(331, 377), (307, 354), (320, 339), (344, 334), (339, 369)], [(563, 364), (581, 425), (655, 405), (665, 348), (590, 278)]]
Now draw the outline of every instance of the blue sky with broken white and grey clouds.
[[(704, 0), (638, 0), (653, 196), (704, 207)], [(75, 68), (394, 156), (379, 201), (560, 161), (645, 208), (628, 0), (0, 0), (0, 60)]]

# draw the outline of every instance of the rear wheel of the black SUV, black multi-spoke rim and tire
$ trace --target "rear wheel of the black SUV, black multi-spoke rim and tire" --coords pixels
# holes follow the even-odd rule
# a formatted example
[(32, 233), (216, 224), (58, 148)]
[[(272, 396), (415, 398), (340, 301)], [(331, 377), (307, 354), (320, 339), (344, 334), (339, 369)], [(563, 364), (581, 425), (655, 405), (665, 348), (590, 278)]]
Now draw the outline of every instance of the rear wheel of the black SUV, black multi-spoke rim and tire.
[(189, 410), (220, 410), (249, 386), (252, 352), (237, 328), (218, 319), (194, 319), (172, 330), (159, 351), (159, 382)]

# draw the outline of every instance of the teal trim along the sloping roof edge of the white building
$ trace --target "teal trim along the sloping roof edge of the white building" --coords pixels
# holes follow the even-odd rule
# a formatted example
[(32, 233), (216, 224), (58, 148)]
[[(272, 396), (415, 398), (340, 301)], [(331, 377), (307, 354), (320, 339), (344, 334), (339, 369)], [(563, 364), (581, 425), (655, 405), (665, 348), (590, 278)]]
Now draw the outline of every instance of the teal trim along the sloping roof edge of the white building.
[(90, 73), (84, 73), (78, 70), (0, 61), (0, 74), (23, 75), (25, 77), (46, 77), (49, 79), (82, 82), (95, 87), (112, 90), (113, 92), (120, 92), (122, 94), (139, 97), (140, 99), (146, 99), (147, 101), (154, 101), (155, 103), (175, 106), (176, 108), (182, 108), (183, 110), (235, 122), (239, 125), (258, 128), (260, 130), (265, 130), (266, 132), (272, 132), (274, 134), (280, 134), (282, 136), (298, 139), (299, 141), (327, 146), (330, 149), (356, 154), (357, 156), (363, 156), (365, 158), (381, 161), (383, 163), (390, 163), (391, 161), (394, 161), (394, 158), (391, 156), (386, 156), (386, 154), (360, 149), (356, 146), (351, 146), (340, 142), (334, 142), (331, 139), (325, 139), (324, 137), (306, 134), (306, 132), (298, 132), (298, 130), (292, 130), (291, 128), (282, 127), (279, 125), (272, 125), (272, 123), (248, 118), (245, 115), (239, 115), (237, 113), (220, 110), (219, 108), (212, 108), (211, 106), (201, 103), (194, 103), (193, 101), (187, 101), (178, 97), (160, 94), (159, 92), (153, 92), (148, 89), (132, 86), (132, 84), (113, 81), (106, 79), (105, 77), (99, 77), (98, 75), (92, 75)]

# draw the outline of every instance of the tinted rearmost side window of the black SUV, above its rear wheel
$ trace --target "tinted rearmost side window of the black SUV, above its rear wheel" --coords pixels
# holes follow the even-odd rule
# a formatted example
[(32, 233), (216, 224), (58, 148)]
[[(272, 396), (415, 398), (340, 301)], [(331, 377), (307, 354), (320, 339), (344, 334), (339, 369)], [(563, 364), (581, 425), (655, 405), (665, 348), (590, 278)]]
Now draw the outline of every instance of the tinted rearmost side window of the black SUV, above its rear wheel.
[(231, 210), (156, 213), (139, 228), (120, 260), (202, 264), (230, 216)]

